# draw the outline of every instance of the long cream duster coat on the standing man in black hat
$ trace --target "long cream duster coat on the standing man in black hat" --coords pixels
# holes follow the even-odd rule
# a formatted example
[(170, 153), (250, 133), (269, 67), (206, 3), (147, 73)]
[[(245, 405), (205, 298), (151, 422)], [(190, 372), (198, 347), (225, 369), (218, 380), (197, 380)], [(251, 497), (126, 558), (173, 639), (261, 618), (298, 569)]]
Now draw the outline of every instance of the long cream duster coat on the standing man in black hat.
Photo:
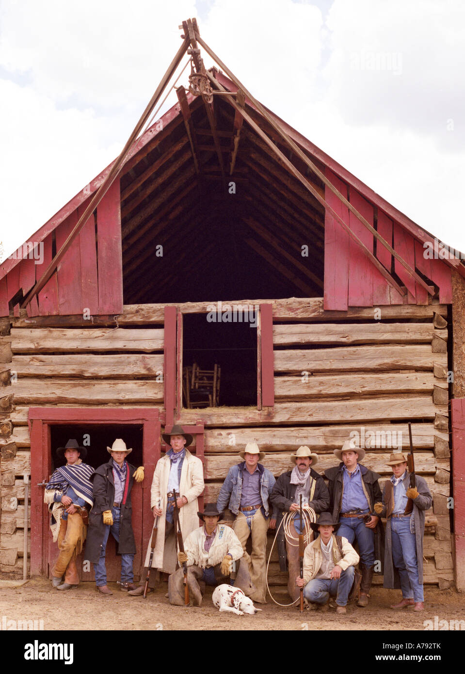
[[(156, 546), (154, 557), (152, 559), (152, 569), (160, 569), (168, 574), (173, 574), (176, 570), (177, 555), (173, 545), (164, 545), (164, 529), (166, 504), (168, 503), (168, 479), (170, 477), (171, 461), (168, 456), (163, 456), (155, 466), (154, 479), (152, 481), (152, 491), (150, 492), (150, 508), (154, 505), (162, 510), (162, 516), (158, 520), (158, 532), (156, 536)], [(204, 491), (204, 466), (202, 461), (196, 456), (192, 456), (189, 450), (186, 450), (181, 468), (181, 479), (179, 480), (179, 495), (187, 498), (187, 503), (179, 510), (179, 524), (183, 534), (183, 541), (187, 539), (191, 531), (199, 526), (199, 503), (197, 497)], [(150, 541), (152, 537), (150, 537)], [(168, 538), (169, 540), (169, 538)], [(150, 559), (150, 541), (146, 553), (144, 566), (148, 567)]]

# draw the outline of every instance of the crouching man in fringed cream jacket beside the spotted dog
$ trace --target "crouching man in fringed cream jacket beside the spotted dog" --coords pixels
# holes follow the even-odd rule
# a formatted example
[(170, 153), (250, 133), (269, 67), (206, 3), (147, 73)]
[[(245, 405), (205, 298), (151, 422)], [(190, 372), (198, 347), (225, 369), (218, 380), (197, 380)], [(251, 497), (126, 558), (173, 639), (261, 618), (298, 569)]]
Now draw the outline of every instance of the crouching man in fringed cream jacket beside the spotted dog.
[[(204, 526), (193, 530), (184, 543), (184, 552), (178, 553), (179, 563), (187, 563), (187, 585), (191, 603), (200, 606), (202, 603), (201, 585), (220, 585), (234, 582), (241, 590), (249, 590), (250, 576), (247, 565), (240, 565), (243, 556), (241, 541), (230, 526), (218, 524), (222, 513), (218, 512), (215, 503), (206, 503), (204, 512), (197, 515), (204, 521)], [(237, 561), (235, 580), (231, 579), (233, 561)], [(241, 574), (239, 574), (241, 569)], [(243, 578), (247, 576), (247, 578)], [(243, 586), (245, 580), (246, 587)], [(248, 583), (248, 584), (247, 584)], [(184, 605), (183, 568), (171, 574), (168, 582), (170, 603)]]

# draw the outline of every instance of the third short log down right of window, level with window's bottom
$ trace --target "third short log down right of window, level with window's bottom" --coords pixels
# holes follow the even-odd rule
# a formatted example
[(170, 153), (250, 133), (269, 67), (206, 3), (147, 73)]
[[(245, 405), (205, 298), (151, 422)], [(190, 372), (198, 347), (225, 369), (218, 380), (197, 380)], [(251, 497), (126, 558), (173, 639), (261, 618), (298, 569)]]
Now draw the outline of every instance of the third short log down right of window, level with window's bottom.
[[(431, 372), (406, 374), (325, 375), (323, 377), (275, 377), (276, 400), (299, 400), (328, 396), (368, 396), (383, 394), (421, 393), (435, 390), (435, 377)], [(437, 404), (447, 404), (447, 391), (441, 389), (441, 397), (433, 397)]]

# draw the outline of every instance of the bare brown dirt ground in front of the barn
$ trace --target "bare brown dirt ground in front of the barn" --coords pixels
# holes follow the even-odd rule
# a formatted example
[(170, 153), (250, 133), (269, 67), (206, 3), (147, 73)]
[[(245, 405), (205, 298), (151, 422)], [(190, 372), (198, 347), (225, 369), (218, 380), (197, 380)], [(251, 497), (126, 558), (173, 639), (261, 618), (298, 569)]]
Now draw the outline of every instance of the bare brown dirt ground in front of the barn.
[[(44, 578), (0, 581), (0, 621), (43, 620), (44, 630), (62, 630), (73, 615), (75, 630), (424, 630), (423, 621), (465, 618), (465, 594), (455, 590), (425, 589), (425, 611), (390, 609), (400, 599), (400, 591), (374, 588), (370, 605), (359, 609), (349, 605), (345, 616), (281, 608), (270, 603), (255, 615), (219, 613), (212, 604), (212, 588), (207, 588), (202, 607), (171, 606), (164, 596), (166, 584), (148, 594), (132, 597), (109, 583), (113, 596), (102, 596), (93, 583), (60, 592)], [(276, 596), (286, 603), (286, 594)], [(5, 629), (5, 626), (3, 626)]]

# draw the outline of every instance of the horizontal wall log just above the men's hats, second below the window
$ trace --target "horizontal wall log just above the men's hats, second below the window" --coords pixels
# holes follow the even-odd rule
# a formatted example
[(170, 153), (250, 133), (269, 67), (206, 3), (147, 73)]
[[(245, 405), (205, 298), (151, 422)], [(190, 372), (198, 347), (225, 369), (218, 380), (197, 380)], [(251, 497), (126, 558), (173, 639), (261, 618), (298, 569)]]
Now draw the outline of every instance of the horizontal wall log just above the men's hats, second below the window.
[[(412, 442), (415, 449), (433, 450), (435, 428), (432, 423), (412, 423)], [(375, 448), (392, 447), (407, 450), (408, 425), (400, 423), (379, 423), (367, 425), (324, 425), (290, 427), (239, 427), (207, 428), (205, 431), (206, 454), (224, 454), (243, 451), (248, 442), (256, 442), (263, 452), (294, 452), (299, 446), (307, 445), (317, 454), (332, 454), (340, 449), (344, 441), (358, 433), (363, 446), (370, 452)], [(447, 438), (447, 435), (441, 436)], [(317, 468), (318, 470), (318, 468)]]

